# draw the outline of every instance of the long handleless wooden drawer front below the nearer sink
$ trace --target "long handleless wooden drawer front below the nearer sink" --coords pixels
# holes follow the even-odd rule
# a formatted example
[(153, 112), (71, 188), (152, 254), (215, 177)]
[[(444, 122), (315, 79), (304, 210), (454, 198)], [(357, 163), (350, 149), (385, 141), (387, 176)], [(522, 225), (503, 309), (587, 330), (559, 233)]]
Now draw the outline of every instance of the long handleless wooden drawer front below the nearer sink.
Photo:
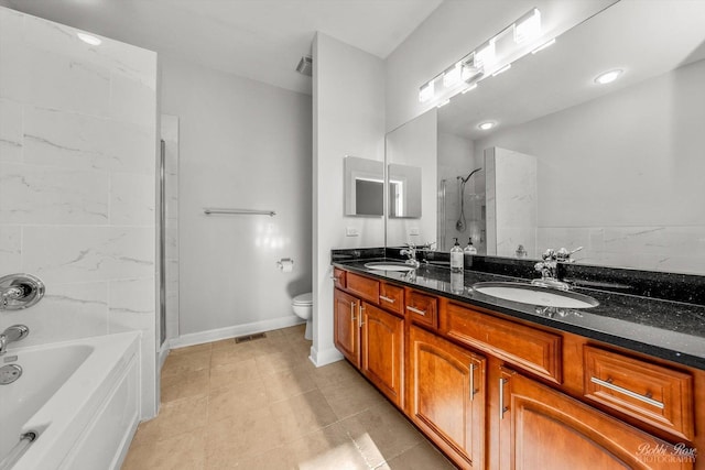
[(488, 351), (552, 382), (561, 383), (561, 337), (447, 304), (442, 328), (466, 345)]

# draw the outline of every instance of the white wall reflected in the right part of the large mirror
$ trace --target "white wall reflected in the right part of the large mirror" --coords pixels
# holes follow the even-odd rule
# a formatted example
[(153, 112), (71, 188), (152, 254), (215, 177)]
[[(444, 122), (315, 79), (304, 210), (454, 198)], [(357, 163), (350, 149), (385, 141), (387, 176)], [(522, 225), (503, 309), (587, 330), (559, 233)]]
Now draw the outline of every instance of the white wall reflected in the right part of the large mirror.
[(702, 274), (703, 77), (705, 61), (499, 131), (475, 151), (538, 157), (540, 251), (583, 245), (574, 258), (585, 263)]

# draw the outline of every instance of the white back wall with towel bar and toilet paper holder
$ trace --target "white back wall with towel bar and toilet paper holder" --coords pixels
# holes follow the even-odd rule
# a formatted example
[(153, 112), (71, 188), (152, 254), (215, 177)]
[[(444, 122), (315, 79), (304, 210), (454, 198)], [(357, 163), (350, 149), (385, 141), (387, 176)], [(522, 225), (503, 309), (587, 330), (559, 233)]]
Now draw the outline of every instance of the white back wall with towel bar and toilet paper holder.
[[(174, 345), (299, 321), (311, 292), (311, 97), (165, 58), (180, 118), (180, 331)], [(206, 216), (205, 207), (276, 216)], [(276, 261), (294, 260), (292, 273)]]

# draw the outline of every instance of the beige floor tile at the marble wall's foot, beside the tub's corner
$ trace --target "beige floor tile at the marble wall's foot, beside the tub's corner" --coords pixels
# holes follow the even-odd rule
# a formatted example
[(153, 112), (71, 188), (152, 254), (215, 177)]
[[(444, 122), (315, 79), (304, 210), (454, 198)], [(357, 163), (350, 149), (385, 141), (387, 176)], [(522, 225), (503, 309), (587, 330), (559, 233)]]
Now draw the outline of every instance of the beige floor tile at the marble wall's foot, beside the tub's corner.
[(206, 395), (163, 403), (159, 416), (140, 424), (134, 444), (149, 445), (203, 428), (206, 425), (207, 403)]

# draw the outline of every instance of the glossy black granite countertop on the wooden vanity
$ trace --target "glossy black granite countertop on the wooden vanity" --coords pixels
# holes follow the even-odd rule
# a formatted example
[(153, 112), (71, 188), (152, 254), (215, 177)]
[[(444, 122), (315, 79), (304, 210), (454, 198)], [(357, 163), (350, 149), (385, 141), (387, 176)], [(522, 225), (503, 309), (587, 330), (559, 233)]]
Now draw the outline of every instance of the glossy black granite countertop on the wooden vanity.
[(478, 282), (527, 282), (525, 278), (466, 269), (458, 274), (463, 276), (460, 289), (456, 274), (453, 274), (455, 278), (452, 285), (452, 273), (446, 266), (422, 264), (411, 273), (365, 267), (367, 262), (381, 260), (334, 261), (333, 264), (371, 277), (393, 281), (432, 294), (442, 294), (454, 300), (538, 325), (705, 370), (705, 306), (594, 288), (573, 288), (574, 292), (594, 297), (599, 305), (586, 309), (542, 307), (491, 297), (471, 288), (473, 284)]

